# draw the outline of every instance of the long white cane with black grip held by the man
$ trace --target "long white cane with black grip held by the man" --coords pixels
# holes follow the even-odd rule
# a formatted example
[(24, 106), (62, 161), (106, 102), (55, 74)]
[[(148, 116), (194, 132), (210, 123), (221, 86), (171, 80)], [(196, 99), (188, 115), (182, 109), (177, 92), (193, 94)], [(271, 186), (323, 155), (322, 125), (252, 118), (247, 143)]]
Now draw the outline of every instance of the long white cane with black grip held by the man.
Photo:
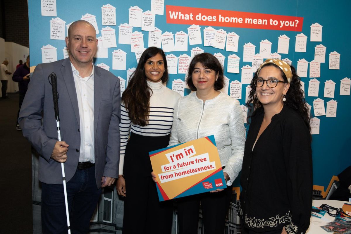
[[(54, 99), (54, 110), (55, 110), (55, 118), (56, 118), (56, 126), (57, 126), (57, 135), (58, 135), (59, 141), (61, 141), (59, 103), (58, 103), (58, 93), (57, 93), (57, 78), (56, 78), (56, 74), (55, 73), (51, 73), (49, 75), (49, 81), (50, 80), (51, 80), (51, 86), (52, 86), (52, 97)], [(62, 171), (62, 183), (64, 185), (64, 193), (65, 193), (67, 230), (68, 230), (68, 234), (71, 234), (71, 227), (69, 225), (69, 213), (68, 213), (67, 189), (66, 189), (66, 178), (65, 178), (65, 166), (64, 166), (63, 162), (61, 163), (61, 171)]]

